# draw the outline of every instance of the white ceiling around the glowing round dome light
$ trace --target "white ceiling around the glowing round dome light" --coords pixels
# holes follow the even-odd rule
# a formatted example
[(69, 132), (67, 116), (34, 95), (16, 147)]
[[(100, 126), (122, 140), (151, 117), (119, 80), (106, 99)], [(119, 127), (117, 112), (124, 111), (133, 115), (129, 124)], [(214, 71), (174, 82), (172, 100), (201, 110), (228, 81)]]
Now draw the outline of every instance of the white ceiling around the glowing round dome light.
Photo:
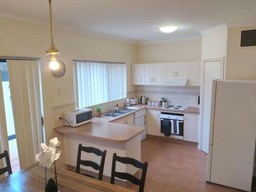
[[(137, 43), (199, 38), (227, 24), (256, 25), (255, 0), (52, 0), (56, 25)], [(21, 4), (22, 2), (22, 4)], [(47, 0), (0, 1), (0, 16), (48, 23)], [(159, 26), (179, 25), (170, 34)]]

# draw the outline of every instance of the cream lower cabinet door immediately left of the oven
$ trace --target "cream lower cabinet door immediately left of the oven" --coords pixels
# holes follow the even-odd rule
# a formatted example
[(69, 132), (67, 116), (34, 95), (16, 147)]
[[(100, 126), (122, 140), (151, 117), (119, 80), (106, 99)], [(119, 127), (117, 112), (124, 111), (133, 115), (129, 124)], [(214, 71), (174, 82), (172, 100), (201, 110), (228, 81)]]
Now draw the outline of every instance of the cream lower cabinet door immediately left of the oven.
[(148, 135), (160, 136), (161, 120), (160, 111), (147, 110), (146, 112), (146, 133)]

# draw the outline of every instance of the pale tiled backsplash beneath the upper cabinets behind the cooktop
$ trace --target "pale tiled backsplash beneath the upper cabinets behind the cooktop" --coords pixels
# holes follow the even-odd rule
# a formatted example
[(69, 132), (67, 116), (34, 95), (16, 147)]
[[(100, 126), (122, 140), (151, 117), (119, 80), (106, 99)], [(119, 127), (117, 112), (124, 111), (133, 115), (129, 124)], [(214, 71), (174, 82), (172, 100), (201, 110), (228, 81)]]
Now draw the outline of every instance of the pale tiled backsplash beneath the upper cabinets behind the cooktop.
[(198, 105), (200, 87), (169, 87), (169, 86), (134, 86), (136, 97), (148, 97), (150, 101), (159, 101), (164, 97), (168, 104), (194, 106)]

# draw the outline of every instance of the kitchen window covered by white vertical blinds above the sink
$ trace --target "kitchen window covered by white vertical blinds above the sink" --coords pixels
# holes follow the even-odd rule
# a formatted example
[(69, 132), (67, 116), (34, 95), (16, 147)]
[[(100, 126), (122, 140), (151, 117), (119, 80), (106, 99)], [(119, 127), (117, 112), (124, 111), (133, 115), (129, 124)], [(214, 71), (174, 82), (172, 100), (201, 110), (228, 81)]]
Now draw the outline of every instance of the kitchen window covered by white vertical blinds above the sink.
[(74, 72), (77, 107), (126, 98), (125, 63), (75, 60)]

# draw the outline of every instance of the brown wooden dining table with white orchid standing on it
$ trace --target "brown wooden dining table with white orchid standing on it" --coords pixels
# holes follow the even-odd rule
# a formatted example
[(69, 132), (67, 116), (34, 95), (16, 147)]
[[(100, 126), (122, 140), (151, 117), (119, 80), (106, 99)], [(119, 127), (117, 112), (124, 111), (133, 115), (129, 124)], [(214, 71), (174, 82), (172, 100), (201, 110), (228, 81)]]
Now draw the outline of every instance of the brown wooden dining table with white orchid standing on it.
[[(47, 169), (47, 179), (55, 178), (54, 169)], [(66, 169), (57, 168), (58, 190), (72, 191), (118, 191), (132, 192), (133, 190), (86, 177)], [(10, 176), (0, 179), (0, 191), (45, 191), (45, 168), (33, 165)]]

